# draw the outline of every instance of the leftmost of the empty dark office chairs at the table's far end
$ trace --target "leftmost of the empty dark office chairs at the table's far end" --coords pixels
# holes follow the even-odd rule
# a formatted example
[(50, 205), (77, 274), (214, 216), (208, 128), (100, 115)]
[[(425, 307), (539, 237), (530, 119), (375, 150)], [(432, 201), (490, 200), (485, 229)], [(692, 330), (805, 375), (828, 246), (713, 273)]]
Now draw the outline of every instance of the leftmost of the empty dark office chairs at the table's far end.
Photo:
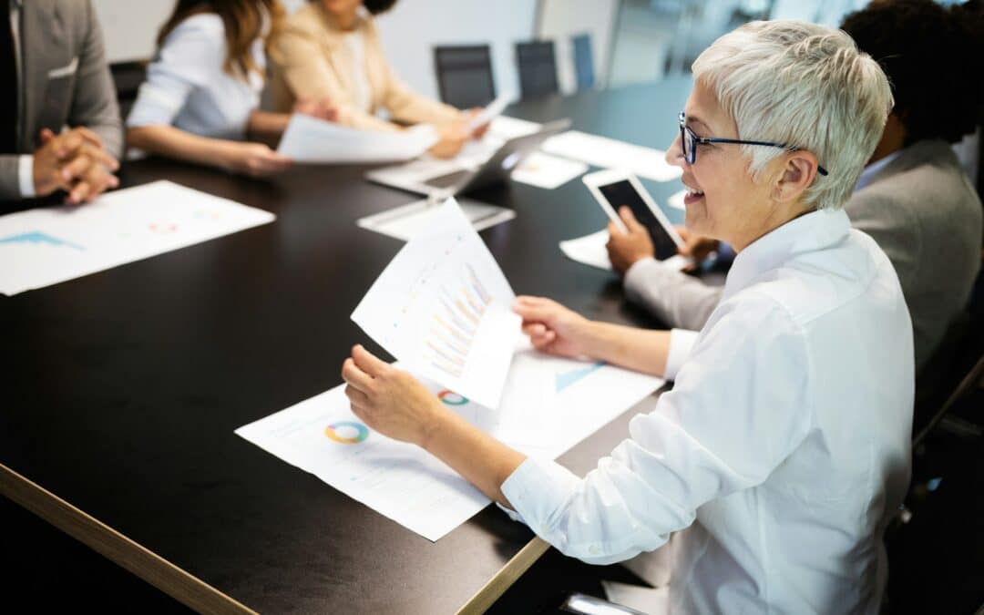
[(489, 45), (436, 46), (434, 72), (441, 100), (452, 106), (470, 109), (495, 98)]

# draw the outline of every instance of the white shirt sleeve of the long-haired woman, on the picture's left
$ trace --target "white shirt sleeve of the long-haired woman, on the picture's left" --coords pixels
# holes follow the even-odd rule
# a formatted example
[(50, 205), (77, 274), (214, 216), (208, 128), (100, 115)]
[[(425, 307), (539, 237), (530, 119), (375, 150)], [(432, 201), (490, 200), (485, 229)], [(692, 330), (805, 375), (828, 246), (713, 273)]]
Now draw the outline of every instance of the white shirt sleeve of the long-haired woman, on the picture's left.
[(225, 38), (216, 15), (191, 17), (171, 31), (147, 69), (128, 127), (170, 125), (195, 88), (220, 76)]

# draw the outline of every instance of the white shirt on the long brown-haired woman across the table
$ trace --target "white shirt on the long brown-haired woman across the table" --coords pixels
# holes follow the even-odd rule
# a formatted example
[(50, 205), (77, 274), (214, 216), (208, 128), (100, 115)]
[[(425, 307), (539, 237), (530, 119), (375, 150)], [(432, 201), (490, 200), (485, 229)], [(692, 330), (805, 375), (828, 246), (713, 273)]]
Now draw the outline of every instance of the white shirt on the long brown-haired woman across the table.
[[(263, 38), (250, 53), (264, 71)], [(147, 69), (127, 126), (173, 124), (181, 130), (215, 139), (242, 140), (250, 113), (260, 105), (263, 77), (246, 81), (223, 69), (227, 47), (225, 27), (215, 13), (189, 17), (167, 34)]]

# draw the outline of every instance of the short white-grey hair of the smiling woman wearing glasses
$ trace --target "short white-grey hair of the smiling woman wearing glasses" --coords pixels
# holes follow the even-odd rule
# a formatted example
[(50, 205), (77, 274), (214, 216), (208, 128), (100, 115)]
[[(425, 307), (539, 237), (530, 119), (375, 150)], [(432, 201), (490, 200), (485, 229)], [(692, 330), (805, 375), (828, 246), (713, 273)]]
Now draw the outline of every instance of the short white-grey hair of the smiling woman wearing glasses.
[[(889, 80), (844, 31), (806, 22), (752, 22), (702, 53), (694, 77), (717, 96), (738, 138), (796, 146), (817, 155), (804, 202), (841, 207), (875, 151), (892, 109)], [(708, 135), (714, 136), (714, 135)], [(741, 146), (758, 179), (777, 148)]]

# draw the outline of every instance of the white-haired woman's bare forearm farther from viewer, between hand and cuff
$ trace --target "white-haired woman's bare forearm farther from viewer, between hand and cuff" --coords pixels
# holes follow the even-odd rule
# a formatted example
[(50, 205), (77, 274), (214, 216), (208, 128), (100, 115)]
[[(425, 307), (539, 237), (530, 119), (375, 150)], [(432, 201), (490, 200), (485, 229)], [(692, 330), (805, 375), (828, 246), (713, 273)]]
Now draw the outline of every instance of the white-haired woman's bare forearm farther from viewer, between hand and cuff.
[(635, 327), (591, 321), (584, 349), (588, 356), (637, 372), (663, 376), (669, 353), (668, 331), (646, 331)]

